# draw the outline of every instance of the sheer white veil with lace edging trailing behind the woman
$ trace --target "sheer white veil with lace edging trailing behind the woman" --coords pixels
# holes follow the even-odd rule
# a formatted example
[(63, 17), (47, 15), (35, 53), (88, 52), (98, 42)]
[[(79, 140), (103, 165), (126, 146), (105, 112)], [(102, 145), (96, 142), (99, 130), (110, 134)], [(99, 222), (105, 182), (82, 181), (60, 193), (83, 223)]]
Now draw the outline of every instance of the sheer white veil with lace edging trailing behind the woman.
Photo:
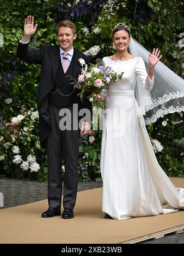
[[(148, 69), (149, 52), (132, 37), (129, 50), (133, 56), (141, 56)], [(146, 125), (169, 113), (184, 111), (184, 80), (161, 61), (155, 66), (154, 76), (150, 92), (142, 87), (139, 78), (136, 83), (139, 115), (144, 115)]]

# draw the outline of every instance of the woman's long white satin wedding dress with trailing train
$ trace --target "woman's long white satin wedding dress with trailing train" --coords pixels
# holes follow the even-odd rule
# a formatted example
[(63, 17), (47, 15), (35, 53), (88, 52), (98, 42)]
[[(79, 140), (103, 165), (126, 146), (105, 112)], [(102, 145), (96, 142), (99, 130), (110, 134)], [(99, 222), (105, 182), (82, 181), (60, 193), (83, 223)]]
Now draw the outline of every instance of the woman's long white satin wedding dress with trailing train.
[(109, 83), (101, 144), (102, 211), (113, 219), (164, 214), (184, 209), (184, 190), (175, 188), (156, 160), (134, 96), (136, 77), (145, 90), (150, 79), (141, 57), (125, 61), (103, 58), (123, 78)]

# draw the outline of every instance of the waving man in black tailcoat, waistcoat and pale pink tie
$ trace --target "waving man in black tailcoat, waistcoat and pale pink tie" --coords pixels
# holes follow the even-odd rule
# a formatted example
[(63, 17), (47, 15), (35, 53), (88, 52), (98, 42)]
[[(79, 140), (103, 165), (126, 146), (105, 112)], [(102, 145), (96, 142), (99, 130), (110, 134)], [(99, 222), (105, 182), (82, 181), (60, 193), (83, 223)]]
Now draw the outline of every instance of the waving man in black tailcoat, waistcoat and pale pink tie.
[[(65, 175), (63, 188), (63, 219), (74, 217), (74, 206), (77, 196), (77, 162), (79, 155), (79, 130), (64, 129), (61, 112), (66, 109), (72, 115), (63, 117), (64, 122), (74, 125), (78, 120), (77, 109), (90, 109), (90, 101), (86, 98), (82, 103), (73, 90), (71, 76), (75, 79), (80, 74), (79, 58), (83, 58), (89, 64), (89, 58), (83, 53), (77, 52), (73, 42), (77, 36), (74, 23), (63, 20), (56, 27), (58, 46), (45, 46), (39, 50), (28, 50), (29, 40), (36, 32), (34, 17), (25, 19), (24, 36), (18, 44), (17, 56), (27, 63), (41, 64), (40, 86), (38, 96), (39, 111), (39, 138), (42, 147), (47, 151), (48, 159), (48, 210), (42, 213), (42, 217), (61, 215), (61, 156), (63, 155)], [(75, 107), (74, 107), (75, 106)], [(74, 120), (74, 121), (73, 121)], [(78, 122), (77, 122), (78, 124)], [(76, 127), (76, 124), (75, 124)], [(89, 123), (82, 122), (81, 135), (89, 130)]]

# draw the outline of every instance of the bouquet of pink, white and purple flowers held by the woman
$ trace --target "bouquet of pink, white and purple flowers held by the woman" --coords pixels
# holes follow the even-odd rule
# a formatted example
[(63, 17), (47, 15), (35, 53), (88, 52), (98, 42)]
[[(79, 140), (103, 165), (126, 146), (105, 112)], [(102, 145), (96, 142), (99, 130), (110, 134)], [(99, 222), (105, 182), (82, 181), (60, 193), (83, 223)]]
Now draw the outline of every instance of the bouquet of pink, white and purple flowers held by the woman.
[(78, 94), (80, 99), (83, 101), (85, 95), (90, 95), (88, 97), (93, 106), (97, 108), (104, 107), (104, 101), (102, 101), (101, 97), (96, 99), (95, 96), (100, 95), (101, 91), (107, 88), (108, 83), (121, 79), (123, 72), (117, 74), (112, 68), (105, 68), (100, 62), (98, 64), (90, 64), (90, 66), (82, 58), (79, 59), (79, 62), (82, 65), (82, 72), (77, 82), (75, 82), (74, 88), (80, 90)]

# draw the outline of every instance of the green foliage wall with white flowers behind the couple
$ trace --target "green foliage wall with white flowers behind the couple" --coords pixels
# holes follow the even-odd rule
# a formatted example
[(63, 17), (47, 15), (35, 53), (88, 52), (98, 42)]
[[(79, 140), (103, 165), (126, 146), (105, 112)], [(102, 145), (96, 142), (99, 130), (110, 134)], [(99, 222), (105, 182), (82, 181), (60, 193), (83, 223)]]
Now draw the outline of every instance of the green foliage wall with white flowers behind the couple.
[[(97, 58), (113, 53), (111, 30), (117, 23), (123, 22), (145, 48), (151, 51), (153, 47), (158, 47), (163, 54), (162, 61), (184, 77), (182, 1), (14, 0), (0, 3), (0, 174), (47, 180), (47, 158), (38, 138), (40, 66), (23, 63), (16, 56), (27, 15), (34, 15), (38, 23), (30, 48), (56, 44), (56, 24), (69, 19), (77, 26), (74, 46), (95, 62)], [(166, 173), (182, 176), (182, 112), (160, 118), (147, 126), (147, 130), (156, 157)], [(88, 136), (80, 138), (80, 180), (101, 180), (100, 144), (101, 131), (91, 131)], [(64, 165), (61, 174), (64, 174)]]

